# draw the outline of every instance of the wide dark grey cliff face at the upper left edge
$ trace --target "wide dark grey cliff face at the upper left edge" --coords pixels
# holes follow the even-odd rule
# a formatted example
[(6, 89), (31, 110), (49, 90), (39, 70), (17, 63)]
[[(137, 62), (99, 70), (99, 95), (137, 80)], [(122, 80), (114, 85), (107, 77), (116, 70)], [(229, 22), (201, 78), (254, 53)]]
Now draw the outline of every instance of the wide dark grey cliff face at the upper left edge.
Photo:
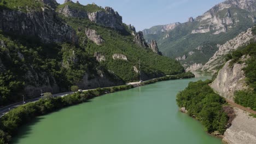
[(77, 35), (59, 17), (54, 9), (24, 13), (16, 10), (0, 10), (0, 29), (3, 32), (37, 37), (44, 43), (78, 43)]

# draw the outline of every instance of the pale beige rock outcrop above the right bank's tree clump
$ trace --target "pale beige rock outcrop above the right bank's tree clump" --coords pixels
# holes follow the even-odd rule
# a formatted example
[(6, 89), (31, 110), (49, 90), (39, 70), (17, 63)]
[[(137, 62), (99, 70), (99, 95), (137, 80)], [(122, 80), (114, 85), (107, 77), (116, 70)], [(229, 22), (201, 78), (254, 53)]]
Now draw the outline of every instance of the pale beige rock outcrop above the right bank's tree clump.
[[(243, 56), (241, 61), (245, 61), (246, 56)], [(245, 72), (242, 70), (246, 64), (234, 64), (230, 66), (230, 61), (226, 62), (224, 67), (219, 70), (216, 80), (211, 84), (211, 87), (222, 97), (234, 101), (235, 91), (248, 89), (246, 85)]]

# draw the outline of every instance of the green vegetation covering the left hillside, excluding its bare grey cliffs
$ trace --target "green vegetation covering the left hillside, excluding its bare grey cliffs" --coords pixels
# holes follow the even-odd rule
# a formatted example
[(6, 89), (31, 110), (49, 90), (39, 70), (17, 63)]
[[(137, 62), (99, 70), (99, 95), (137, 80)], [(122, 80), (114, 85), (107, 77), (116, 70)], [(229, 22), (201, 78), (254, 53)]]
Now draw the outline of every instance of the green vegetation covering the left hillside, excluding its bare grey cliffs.
[[(40, 27), (42, 30), (35, 32), (36, 34), (30, 35), (30, 37), (19, 35), (23, 32), (19, 34), (5, 32), (9, 19), (2, 24), (5, 29), (2, 29), (3, 32), (0, 31), (0, 106), (21, 101), (22, 95), (25, 95), (25, 99), (39, 97), (40, 89), (51, 93), (67, 92), (69, 86), (78, 86), (79, 83), (85, 85), (84, 81), (89, 83), (90, 80), (102, 79), (104, 81), (102, 83), (112, 82), (112, 86), (120, 85), (125, 81), (138, 81), (139, 60), (144, 79), (184, 73), (182, 65), (173, 59), (156, 55), (150, 49), (137, 46), (133, 41), (135, 36), (131, 34), (132, 32), (125, 24), (123, 24), (124, 29), (118, 31), (115, 28), (91, 22), (88, 18), (64, 17), (62, 14), (57, 14), (56, 9), (56, 11), (50, 10), (47, 13), (42, 12), (42, 8), (49, 8), (49, 5), (53, 9), (69, 5), (69, 9), (75, 9), (74, 11), (103, 10), (95, 4), (81, 5), (67, 2), (59, 5), (56, 1), (0, 0), (1, 14), (3, 13), (1, 10), (6, 8), (9, 11), (13, 10), (15, 13), (24, 14), (28, 13), (26, 9), (37, 11), (30, 13), (30, 17), (26, 17), (29, 22), (24, 22), (25, 26), (20, 25), (22, 22), (17, 22), (14, 27), (29, 28), (31, 26), (27, 23), (36, 23), (31, 29), (38, 29), (42, 23), (38, 25), (36, 22), (40, 21), (38, 15), (35, 16), (37, 19), (34, 19), (33, 16), (39, 13), (49, 15), (40, 21), (45, 24)], [(38, 11), (39, 9), (40, 11)], [(3, 14), (3, 16), (5, 15)], [(48, 25), (48, 22), (53, 25)], [(37, 37), (38, 35), (42, 36), (40, 32), (52, 35), (47, 33), (48, 31), (44, 28), (47, 27), (49, 30), (59, 22), (63, 22), (66, 27), (71, 26), (75, 30), (73, 31), (69, 27), (66, 29), (68, 32), (66, 30), (62, 32), (61, 29), (55, 32), (58, 33), (57, 35), (64, 34), (65, 37), (68, 37), (69, 42), (50, 43), (52, 41), (48, 41), (49, 43), (46, 44)], [(85, 33), (85, 29), (88, 28), (94, 29), (101, 36), (103, 44), (97, 45), (88, 38)], [(20, 28), (20, 31), (24, 30)], [(95, 53), (104, 56), (105, 61), (98, 62)], [(127, 61), (114, 59), (114, 54), (126, 56)], [(91, 85), (88, 84), (85, 87), (91, 87)]]

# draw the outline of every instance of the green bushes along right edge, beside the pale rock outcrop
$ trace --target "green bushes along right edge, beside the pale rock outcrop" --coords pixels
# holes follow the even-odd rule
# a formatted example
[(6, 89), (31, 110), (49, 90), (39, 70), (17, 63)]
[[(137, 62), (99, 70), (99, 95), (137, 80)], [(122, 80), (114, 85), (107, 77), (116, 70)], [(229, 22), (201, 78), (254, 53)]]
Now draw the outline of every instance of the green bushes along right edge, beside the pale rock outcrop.
[[(253, 28), (256, 32), (256, 28)], [(242, 56), (248, 56), (246, 67), (243, 69), (246, 75), (246, 82), (250, 87), (247, 91), (238, 91), (235, 93), (235, 102), (245, 107), (251, 107), (256, 110), (256, 44), (252, 43), (241, 49), (232, 52), (226, 60), (230, 60), (230, 67), (235, 63), (243, 63)]]

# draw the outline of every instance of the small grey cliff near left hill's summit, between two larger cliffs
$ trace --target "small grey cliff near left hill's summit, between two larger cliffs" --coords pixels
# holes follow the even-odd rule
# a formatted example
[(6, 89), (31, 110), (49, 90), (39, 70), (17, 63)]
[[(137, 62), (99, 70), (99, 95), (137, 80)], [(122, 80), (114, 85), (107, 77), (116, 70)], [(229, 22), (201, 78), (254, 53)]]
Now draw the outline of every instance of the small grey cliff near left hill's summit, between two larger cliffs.
[(59, 9), (58, 13), (63, 14), (66, 17), (79, 17), (79, 18), (88, 18), (86, 11), (71, 9), (69, 5), (66, 5), (64, 8)]

